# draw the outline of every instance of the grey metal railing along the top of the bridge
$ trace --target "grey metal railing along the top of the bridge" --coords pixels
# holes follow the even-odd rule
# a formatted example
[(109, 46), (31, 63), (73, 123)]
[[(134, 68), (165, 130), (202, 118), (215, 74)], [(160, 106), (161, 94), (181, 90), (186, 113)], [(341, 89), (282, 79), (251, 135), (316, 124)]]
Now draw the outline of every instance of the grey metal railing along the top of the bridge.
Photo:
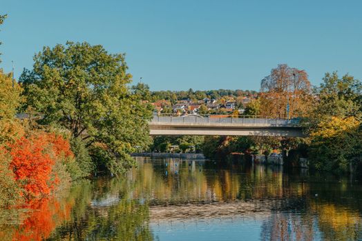
[(280, 118), (261, 118), (259, 116), (198, 116), (198, 115), (189, 115), (189, 116), (174, 116), (174, 115), (154, 115), (152, 122), (158, 123), (197, 123), (197, 124), (208, 124), (208, 123), (219, 123), (219, 124), (267, 124), (267, 125), (279, 125), (279, 126), (289, 126), (289, 125), (298, 125), (299, 120), (294, 119), (280, 119)]

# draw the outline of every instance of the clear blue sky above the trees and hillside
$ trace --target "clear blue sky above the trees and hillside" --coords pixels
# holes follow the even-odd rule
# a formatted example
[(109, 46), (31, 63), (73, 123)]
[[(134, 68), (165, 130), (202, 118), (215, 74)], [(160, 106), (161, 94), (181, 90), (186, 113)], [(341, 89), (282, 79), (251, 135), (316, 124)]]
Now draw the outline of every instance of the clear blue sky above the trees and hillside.
[(259, 90), (278, 63), (313, 84), (338, 70), (362, 78), (362, 1), (2, 1), (0, 64), (15, 76), (44, 45), (125, 52), (151, 90)]

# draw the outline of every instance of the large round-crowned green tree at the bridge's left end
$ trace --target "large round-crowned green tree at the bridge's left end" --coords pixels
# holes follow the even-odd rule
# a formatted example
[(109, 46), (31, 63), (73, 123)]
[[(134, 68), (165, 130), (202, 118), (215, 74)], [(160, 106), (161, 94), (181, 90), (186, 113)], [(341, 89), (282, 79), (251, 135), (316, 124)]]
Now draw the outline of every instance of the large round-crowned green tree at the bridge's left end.
[[(128, 87), (124, 54), (102, 45), (67, 42), (35, 54), (32, 70), (21, 74), (26, 107), (44, 114), (40, 123), (56, 125), (82, 138), (99, 166), (120, 174), (135, 164), (129, 153), (149, 144), (152, 112), (144, 86)], [(102, 155), (99, 155), (102, 154)], [(99, 160), (103, 158), (103, 160)]]

